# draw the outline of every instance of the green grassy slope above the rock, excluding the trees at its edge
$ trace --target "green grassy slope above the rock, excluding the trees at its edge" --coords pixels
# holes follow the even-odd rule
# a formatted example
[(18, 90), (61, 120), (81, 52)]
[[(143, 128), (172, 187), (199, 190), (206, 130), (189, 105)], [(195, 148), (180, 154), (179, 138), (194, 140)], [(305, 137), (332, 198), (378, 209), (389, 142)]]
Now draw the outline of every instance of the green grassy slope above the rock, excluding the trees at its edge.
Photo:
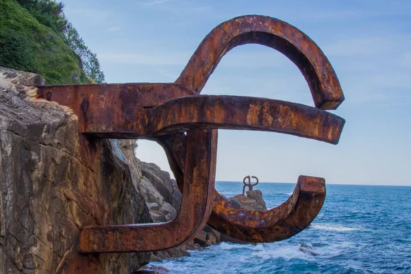
[(75, 52), (16, 1), (0, 1), (0, 14), (0, 66), (38, 73), (48, 84), (88, 82)]

